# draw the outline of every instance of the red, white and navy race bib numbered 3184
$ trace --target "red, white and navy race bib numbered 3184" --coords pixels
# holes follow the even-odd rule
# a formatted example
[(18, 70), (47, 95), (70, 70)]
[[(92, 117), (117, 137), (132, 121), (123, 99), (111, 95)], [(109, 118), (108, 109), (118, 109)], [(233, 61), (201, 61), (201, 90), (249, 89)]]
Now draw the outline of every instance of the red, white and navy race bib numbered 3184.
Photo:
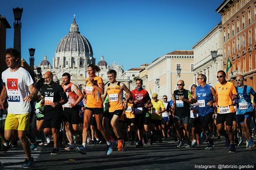
[(7, 79), (8, 102), (20, 102), (20, 93), (18, 91), (18, 79)]

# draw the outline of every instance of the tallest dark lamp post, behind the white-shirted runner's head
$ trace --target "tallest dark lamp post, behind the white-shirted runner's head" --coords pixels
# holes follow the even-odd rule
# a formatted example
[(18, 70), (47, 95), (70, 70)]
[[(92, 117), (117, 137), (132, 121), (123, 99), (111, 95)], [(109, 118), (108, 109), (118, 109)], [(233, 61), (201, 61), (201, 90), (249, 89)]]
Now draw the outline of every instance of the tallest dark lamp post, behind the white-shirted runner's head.
[(23, 8), (12, 8), (13, 14), (14, 14), (14, 20), (13, 23), (14, 26), (14, 40), (13, 40), (13, 48), (17, 49), (20, 52), (20, 58), (18, 65), (21, 66), (21, 16), (23, 12)]

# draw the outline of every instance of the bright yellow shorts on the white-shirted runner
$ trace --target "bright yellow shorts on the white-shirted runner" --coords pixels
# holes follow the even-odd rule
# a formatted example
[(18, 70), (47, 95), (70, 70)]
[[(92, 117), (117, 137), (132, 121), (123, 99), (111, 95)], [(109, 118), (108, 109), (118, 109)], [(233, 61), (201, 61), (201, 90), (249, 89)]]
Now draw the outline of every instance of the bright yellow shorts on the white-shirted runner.
[(30, 113), (26, 114), (10, 114), (6, 116), (6, 122), (4, 125), (5, 130), (29, 130), (29, 116)]

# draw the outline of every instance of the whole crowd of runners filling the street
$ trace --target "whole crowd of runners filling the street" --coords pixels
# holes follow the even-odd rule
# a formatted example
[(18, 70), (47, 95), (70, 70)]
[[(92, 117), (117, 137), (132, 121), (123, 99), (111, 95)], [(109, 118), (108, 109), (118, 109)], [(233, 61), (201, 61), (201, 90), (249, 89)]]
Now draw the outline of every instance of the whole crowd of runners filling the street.
[(141, 148), (144, 144), (166, 141), (170, 136), (177, 141), (177, 148), (207, 142), (205, 149), (210, 150), (214, 147), (212, 136), (219, 139), (221, 135), (229, 153), (236, 152), (235, 145), (244, 144), (247, 150), (255, 146), (251, 122), (256, 93), (244, 85), (242, 75), (236, 77), (237, 87), (227, 82), (224, 71), (218, 71), (219, 83), (215, 87), (206, 83), (204, 74), (198, 74), (198, 85), (189, 90), (179, 80), (172, 99), (164, 95), (161, 101), (158, 94), (149, 95), (142, 88), (143, 80), (139, 78), (136, 88), (130, 91), (116, 80), (115, 70), (107, 72), (109, 83), (105, 85), (96, 76), (100, 68), (91, 64), (87, 67), (84, 89), (70, 82), (68, 73), (62, 75), (59, 85), (53, 81), (52, 72), (47, 71), (45, 84), (38, 91), (37, 82), (18, 66), (19, 56), (13, 48), (6, 50), (8, 69), (2, 74), (0, 109), (5, 109), (8, 103), (8, 114), (4, 133), (0, 132), (0, 153), (20, 140), (26, 154), (22, 168), (35, 165), (31, 150), (52, 140), (51, 155), (60, 153), (60, 145), (64, 146), (63, 152), (76, 150), (86, 154), (87, 144), (105, 144), (105, 154), (110, 155), (125, 150), (128, 142)]

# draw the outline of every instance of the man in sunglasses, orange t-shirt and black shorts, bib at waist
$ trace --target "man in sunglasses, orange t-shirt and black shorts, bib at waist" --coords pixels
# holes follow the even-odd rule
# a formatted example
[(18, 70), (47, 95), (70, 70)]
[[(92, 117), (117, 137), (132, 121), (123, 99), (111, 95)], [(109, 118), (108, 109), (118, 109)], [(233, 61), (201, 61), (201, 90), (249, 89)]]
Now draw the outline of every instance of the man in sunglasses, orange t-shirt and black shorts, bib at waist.
[[(217, 78), (219, 83), (215, 85), (216, 99), (213, 107), (218, 107), (216, 125), (217, 130), (226, 137), (225, 147), (230, 146), (229, 153), (235, 153), (234, 134), (232, 130), (235, 110), (233, 100), (236, 99), (236, 88), (231, 82), (227, 82), (226, 73), (218, 71)], [(226, 130), (224, 129), (226, 122)]]

